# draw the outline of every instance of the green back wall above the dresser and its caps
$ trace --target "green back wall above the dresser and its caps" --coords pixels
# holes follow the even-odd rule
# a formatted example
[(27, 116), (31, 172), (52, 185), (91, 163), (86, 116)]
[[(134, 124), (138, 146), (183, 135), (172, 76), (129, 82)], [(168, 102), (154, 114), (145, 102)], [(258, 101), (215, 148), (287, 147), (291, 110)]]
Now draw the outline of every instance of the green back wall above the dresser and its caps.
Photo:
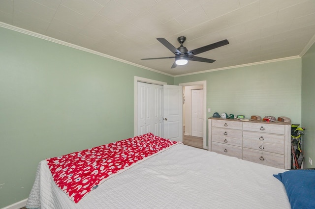
[(174, 84), (200, 80), (207, 81), (207, 117), (226, 112), (301, 123), (301, 58), (175, 77)]

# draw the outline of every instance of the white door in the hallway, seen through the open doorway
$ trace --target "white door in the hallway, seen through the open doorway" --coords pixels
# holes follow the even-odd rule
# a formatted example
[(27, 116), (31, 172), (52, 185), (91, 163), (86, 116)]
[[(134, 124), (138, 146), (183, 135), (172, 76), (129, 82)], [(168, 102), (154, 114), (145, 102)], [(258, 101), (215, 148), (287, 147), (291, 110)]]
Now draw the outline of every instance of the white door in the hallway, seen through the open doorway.
[(191, 135), (203, 137), (203, 89), (191, 90)]

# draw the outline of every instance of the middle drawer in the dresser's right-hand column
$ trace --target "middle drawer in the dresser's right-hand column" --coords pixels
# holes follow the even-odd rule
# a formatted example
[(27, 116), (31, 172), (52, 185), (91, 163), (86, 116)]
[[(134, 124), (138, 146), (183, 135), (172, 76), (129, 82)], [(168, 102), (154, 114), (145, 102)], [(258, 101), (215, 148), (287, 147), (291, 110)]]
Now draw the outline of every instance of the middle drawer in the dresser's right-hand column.
[(284, 135), (243, 132), (243, 147), (261, 151), (261, 142), (263, 151), (284, 154)]

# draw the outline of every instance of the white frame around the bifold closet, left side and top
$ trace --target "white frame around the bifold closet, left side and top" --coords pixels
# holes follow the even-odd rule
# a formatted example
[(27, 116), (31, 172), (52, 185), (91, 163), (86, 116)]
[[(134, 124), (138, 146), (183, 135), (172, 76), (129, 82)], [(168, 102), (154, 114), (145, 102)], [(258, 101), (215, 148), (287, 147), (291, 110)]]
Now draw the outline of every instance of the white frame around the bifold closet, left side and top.
[(139, 82), (145, 82), (145, 83), (151, 83), (151, 84), (157, 84), (157, 85), (164, 85), (167, 84), (166, 82), (162, 82), (162, 81), (158, 81), (158, 80), (152, 80), (149, 78), (141, 78), (141, 77), (137, 77), (135, 76), (133, 79), (133, 135), (137, 136), (137, 107), (138, 107), (138, 103), (137, 103), (137, 93), (138, 93), (138, 81)]

